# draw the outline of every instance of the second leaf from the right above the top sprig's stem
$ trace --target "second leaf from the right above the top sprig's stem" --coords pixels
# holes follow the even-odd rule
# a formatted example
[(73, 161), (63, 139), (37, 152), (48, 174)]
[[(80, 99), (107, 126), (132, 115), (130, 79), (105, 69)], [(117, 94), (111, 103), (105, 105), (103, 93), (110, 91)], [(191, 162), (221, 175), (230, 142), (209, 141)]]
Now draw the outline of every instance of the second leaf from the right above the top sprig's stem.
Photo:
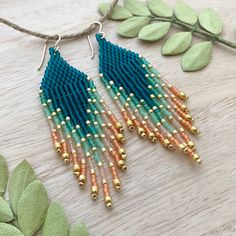
[(190, 25), (197, 22), (197, 13), (183, 1), (177, 1), (174, 13), (177, 19)]

